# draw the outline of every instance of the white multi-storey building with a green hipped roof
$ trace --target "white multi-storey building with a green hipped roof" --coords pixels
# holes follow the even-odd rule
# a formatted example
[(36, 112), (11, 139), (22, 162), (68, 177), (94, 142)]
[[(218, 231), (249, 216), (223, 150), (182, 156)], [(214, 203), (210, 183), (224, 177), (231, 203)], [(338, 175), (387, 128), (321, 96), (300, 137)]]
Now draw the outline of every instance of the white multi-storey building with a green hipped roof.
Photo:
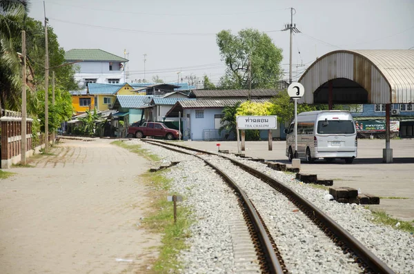
[(65, 59), (69, 63), (79, 61), (75, 64), (75, 80), (81, 88), (88, 83), (119, 84), (128, 81), (124, 70), (128, 59), (104, 50), (72, 49), (65, 53)]

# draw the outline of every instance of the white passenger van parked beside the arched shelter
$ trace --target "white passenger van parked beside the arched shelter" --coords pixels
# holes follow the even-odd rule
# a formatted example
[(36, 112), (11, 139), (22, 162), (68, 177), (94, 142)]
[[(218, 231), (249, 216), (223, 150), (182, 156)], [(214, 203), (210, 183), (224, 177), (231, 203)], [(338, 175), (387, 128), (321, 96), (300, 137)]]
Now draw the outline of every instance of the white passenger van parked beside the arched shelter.
[[(295, 152), (295, 121), (284, 131), (286, 156), (289, 161)], [(297, 155), (312, 163), (324, 158), (333, 162), (344, 159), (351, 164), (357, 157), (357, 131), (350, 112), (346, 110), (319, 110), (297, 115)]]

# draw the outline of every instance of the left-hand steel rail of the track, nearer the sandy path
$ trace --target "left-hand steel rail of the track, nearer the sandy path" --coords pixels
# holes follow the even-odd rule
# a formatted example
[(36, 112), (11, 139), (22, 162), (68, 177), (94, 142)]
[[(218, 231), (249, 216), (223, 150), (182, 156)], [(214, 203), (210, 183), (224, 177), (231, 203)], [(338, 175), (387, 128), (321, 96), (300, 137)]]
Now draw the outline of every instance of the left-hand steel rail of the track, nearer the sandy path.
[[(142, 140), (142, 141), (144, 141), (144, 140)], [(255, 233), (257, 234), (257, 237), (259, 237), (259, 241), (262, 244), (262, 251), (263, 251), (263, 253), (266, 257), (266, 262), (267, 262), (267, 270), (270, 273), (274, 273), (274, 274), (284, 274), (284, 273), (286, 273), (284, 271), (284, 269), (282, 268), (281, 264), (279, 263), (279, 259), (277, 258), (275, 250), (273, 249), (273, 244), (270, 241), (270, 239), (268, 237), (268, 234), (266, 233), (266, 228), (262, 224), (262, 221), (260, 220), (259, 215), (257, 215), (255, 207), (253, 206), (252, 202), (250, 202), (250, 199), (247, 197), (246, 193), (244, 193), (242, 188), (240, 188), (233, 179), (231, 179), (219, 167), (215, 166), (213, 163), (209, 162), (208, 160), (203, 159), (199, 155), (195, 155), (193, 153), (188, 153), (186, 151), (175, 149), (175, 148), (170, 148), (170, 147), (166, 146), (166, 145), (169, 145), (169, 144), (165, 145), (165, 143), (164, 144), (159, 144), (159, 142), (152, 142), (152, 140), (151, 141), (146, 141), (146, 142), (148, 142), (149, 144), (154, 144), (155, 143), (158, 146), (161, 146), (161, 147), (169, 149), (169, 150), (173, 150), (177, 153), (184, 153), (184, 154), (187, 154), (187, 155), (195, 156), (195, 157), (203, 160), (204, 162), (206, 162), (206, 164), (208, 164), (208, 166), (210, 166), (211, 168), (216, 170), (219, 173), (219, 175), (221, 175), (221, 177), (224, 178), (224, 180), (230, 185), (231, 188), (233, 188), (239, 194), (239, 197), (242, 199), (244, 207), (246, 208), (246, 212), (248, 213), (248, 216), (250, 217), (250, 220), (251, 220), (251, 222), (254, 226)]]

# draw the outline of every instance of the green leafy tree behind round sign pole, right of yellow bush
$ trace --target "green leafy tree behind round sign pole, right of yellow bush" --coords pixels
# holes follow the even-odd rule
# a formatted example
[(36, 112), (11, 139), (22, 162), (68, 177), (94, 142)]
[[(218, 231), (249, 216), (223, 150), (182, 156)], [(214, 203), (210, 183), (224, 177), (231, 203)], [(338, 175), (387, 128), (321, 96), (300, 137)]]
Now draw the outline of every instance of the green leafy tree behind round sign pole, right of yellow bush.
[[(295, 118), (295, 102), (290, 99), (287, 90), (280, 91), (275, 97), (270, 99), (273, 104), (273, 115), (277, 115), (277, 119), (282, 123), (290, 123)], [(326, 110), (326, 105), (307, 105), (297, 104), (297, 113), (312, 110)]]

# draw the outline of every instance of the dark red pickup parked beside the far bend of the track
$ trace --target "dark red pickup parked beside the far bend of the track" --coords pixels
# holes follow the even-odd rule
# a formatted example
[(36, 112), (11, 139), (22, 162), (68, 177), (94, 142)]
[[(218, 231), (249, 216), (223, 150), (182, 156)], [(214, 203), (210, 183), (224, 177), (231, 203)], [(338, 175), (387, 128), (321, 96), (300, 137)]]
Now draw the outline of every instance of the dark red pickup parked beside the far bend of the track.
[(128, 128), (128, 135), (135, 136), (139, 139), (145, 138), (146, 136), (152, 137), (164, 137), (168, 140), (179, 139), (181, 133), (179, 130), (168, 128), (163, 123), (148, 121), (138, 126), (132, 124)]

